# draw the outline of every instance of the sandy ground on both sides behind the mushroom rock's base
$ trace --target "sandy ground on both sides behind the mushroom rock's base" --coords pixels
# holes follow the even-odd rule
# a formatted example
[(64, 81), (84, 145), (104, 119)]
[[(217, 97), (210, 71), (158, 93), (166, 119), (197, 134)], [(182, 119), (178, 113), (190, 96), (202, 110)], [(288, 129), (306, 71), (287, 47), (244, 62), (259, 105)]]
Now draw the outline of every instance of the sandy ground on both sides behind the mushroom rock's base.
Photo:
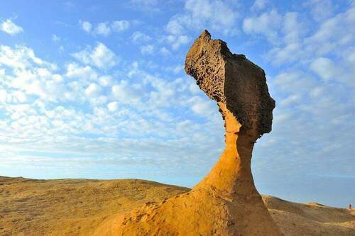
[[(35, 180), (0, 176), (0, 235), (91, 235), (104, 221), (189, 191), (137, 179)], [(263, 196), (285, 236), (355, 235), (355, 210)]]

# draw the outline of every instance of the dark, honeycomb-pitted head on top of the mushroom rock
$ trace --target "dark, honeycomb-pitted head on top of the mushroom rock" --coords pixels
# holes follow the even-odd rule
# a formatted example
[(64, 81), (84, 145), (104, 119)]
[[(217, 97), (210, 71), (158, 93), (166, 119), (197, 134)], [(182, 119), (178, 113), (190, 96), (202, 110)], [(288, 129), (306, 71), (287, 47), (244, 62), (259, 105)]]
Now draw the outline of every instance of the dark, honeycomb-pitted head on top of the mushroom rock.
[(265, 72), (244, 55), (231, 53), (224, 41), (212, 40), (204, 30), (187, 53), (185, 71), (210, 99), (226, 103), (242, 131), (256, 129), (258, 137), (271, 132), (275, 101)]

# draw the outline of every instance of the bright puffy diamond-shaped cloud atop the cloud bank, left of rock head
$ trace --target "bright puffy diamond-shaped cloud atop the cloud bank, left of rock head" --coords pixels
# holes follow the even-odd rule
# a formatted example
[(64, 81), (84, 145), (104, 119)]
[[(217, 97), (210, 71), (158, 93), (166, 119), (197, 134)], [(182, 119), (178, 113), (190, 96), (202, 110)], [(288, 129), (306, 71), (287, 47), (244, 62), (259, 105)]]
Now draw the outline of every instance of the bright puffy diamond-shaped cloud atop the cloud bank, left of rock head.
[(114, 67), (118, 58), (106, 45), (97, 43), (96, 47), (87, 47), (86, 49), (72, 53), (72, 57), (84, 64), (91, 64), (100, 69), (108, 69)]

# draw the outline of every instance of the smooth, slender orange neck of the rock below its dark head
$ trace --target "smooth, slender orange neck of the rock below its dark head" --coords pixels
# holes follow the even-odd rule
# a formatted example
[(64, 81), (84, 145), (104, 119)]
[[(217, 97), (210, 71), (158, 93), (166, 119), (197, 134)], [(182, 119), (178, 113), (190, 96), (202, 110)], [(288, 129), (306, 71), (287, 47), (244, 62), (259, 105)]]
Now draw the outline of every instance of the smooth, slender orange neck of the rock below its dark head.
[(194, 189), (212, 191), (224, 198), (252, 196), (257, 191), (251, 174), (251, 156), (258, 135), (253, 130), (243, 130), (224, 103), (219, 102), (218, 106), (224, 118), (224, 152), (211, 172)]

